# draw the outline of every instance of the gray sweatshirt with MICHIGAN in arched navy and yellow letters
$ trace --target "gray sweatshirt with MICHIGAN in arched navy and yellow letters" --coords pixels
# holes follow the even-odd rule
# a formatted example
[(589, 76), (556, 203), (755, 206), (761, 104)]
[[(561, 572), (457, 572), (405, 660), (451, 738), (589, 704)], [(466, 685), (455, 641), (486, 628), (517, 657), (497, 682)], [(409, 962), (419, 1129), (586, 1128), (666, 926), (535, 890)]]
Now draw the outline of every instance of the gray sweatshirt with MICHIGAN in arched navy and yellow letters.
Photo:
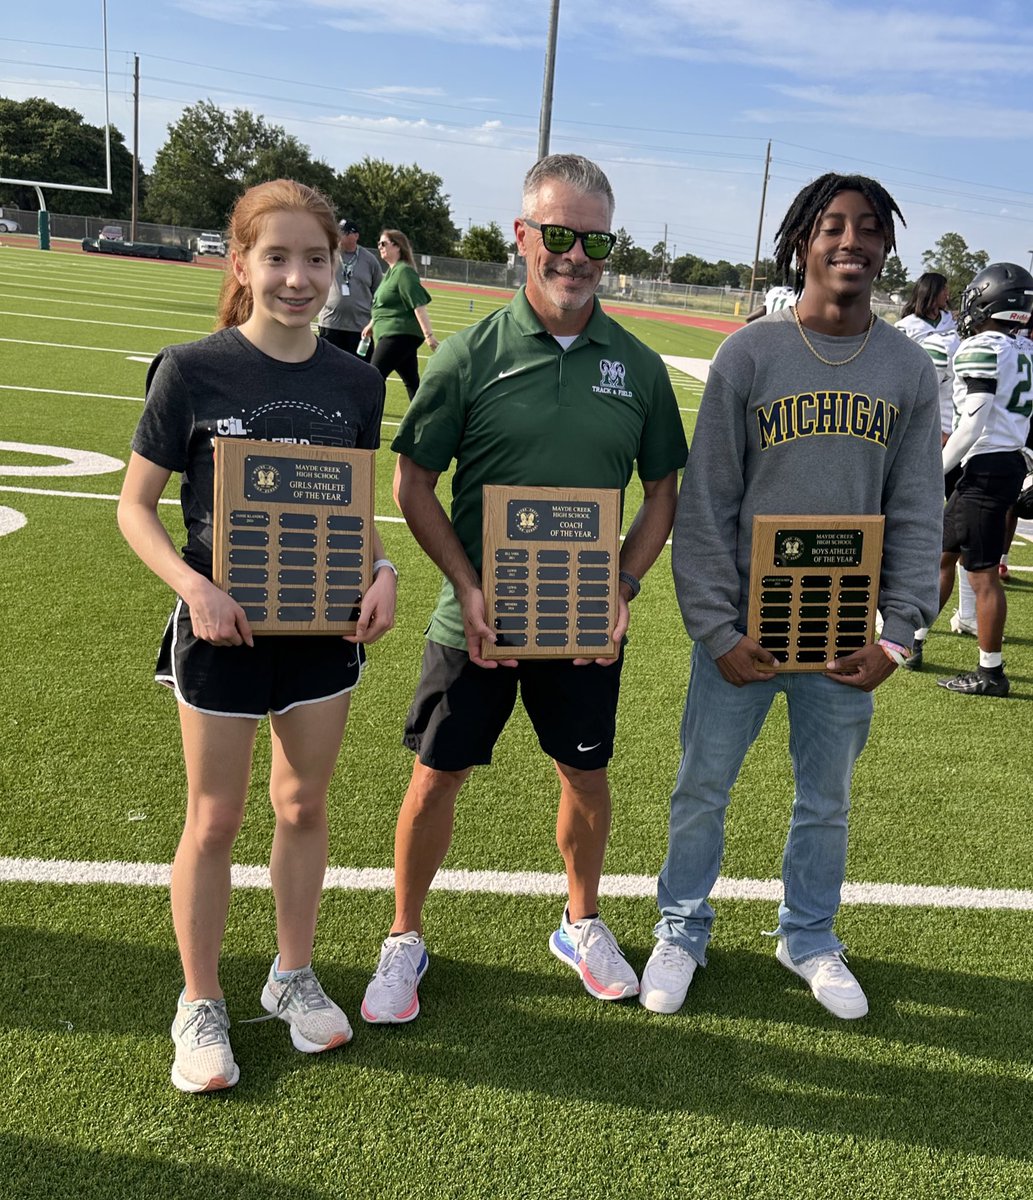
[[(810, 330), (807, 337), (833, 360), (864, 340)], [(758, 514), (882, 514), (883, 636), (912, 644), (939, 607), (943, 528), (937, 380), (920, 346), (877, 320), (852, 362), (827, 366), (783, 310), (737, 330), (717, 350), (672, 550), (685, 628), (715, 659), (746, 629)]]

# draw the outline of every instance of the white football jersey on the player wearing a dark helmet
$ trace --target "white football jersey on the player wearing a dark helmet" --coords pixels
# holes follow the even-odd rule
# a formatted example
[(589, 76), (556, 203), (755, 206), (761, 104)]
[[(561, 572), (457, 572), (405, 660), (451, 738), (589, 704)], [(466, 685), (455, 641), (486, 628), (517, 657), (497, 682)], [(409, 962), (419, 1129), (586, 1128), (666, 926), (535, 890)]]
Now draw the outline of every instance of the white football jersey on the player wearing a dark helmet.
[[(969, 392), (966, 379), (990, 379), (993, 394)], [(954, 407), (959, 415), (978, 413), (989, 404), (986, 424), (975, 444), (961, 460), (978, 454), (1020, 450), (1029, 432), (1033, 413), (1033, 342), (984, 330), (966, 337), (954, 354)]]

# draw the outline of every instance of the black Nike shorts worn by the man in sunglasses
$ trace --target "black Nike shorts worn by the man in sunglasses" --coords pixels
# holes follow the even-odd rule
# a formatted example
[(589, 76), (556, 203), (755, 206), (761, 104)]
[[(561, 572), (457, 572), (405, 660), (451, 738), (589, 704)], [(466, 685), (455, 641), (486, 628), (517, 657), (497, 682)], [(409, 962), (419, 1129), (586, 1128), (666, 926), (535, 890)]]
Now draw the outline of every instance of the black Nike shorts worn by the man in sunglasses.
[(596, 770), (613, 756), (623, 666), (621, 648), (607, 667), (576, 667), (570, 659), (479, 667), (466, 650), (428, 641), (402, 744), (434, 770), (490, 763), (519, 690), (549, 758)]

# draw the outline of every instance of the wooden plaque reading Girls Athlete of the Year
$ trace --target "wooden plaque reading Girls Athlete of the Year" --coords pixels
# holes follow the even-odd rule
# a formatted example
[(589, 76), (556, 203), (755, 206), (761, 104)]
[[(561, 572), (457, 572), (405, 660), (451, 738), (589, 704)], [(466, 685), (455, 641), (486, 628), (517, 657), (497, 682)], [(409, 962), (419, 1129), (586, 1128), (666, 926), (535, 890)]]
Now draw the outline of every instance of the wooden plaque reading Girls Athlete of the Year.
[(215, 439), (212, 577), (256, 634), (354, 634), (373, 566), (373, 454)]

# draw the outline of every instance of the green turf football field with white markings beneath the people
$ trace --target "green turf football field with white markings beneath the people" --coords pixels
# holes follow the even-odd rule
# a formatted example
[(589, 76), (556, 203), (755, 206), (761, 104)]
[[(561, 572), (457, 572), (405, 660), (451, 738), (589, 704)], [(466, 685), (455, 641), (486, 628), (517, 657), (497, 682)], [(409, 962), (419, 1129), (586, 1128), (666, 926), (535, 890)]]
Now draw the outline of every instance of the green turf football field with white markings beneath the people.
[[(557, 785), (517, 712), (464, 788), (426, 913), (408, 1026), (359, 1018), (392, 912), (401, 728), (438, 572), (390, 497), (404, 412), (388, 385), (377, 512), (401, 572), (330, 791), (314, 966), (355, 1038), (298, 1054), (260, 1014), (275, 953), (259, 733), (223, 958), (240, 1084), (169, 1082), (181, 986), (168, 864), (184, 769), (152, 683), (172, 607), (115, 499), (151, 356), (210, 331), (220, 272), (0, 246), (0, 1195), (1028, 1200), (1033, 1195), (1033, 530), (1013, 550), (1008, 700), (947, 617), (926, 668), (878, 691), (855, 773), (839, 931), (870, 1015), (837, 1021), (774, 958), (792, 803), (785, 706), (733, 793), (710, 965), (683, 1012), (602, 1004), (547, 947), (563, 908)], [(503, 301), (431, 287), (438, 337)], [(677, 359), (721, 334), (621, 322)], [(684, 366), (684, 364), (683, 364)], [(672, 367), (691, 432), (701, 384)], [(443, 480), (442, 486), (445, 486)], [(162, 514), (180, 544), (178, 480)], [(629, 488), (633, 515), (641, 490)], [(665, 552), (632, 607), (602, 914), (641, 971), (656, 919), (687, 677)]]

